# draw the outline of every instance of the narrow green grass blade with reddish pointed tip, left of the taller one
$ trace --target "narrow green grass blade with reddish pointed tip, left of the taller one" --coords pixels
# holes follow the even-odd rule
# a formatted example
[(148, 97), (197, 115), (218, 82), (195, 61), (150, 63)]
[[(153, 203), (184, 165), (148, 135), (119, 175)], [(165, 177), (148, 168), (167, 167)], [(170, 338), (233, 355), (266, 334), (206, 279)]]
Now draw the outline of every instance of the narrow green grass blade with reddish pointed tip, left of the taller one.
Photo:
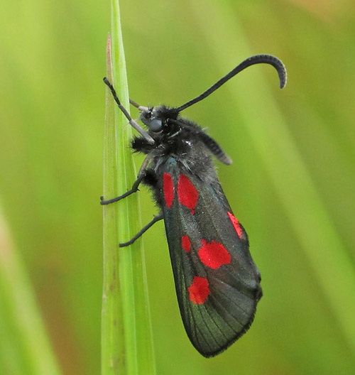
[[(107, 77), (112, 82), (111, 40), (107, 43)], [(104, 129), (104, 197), (117, 195), (117, 151), (114, 101), (106, 92)], [(102, 296), (102, 374), (125, 374), (124, 331), (119, 284), (119, 239), (116, 205), (104, 209), (104, 290)]]

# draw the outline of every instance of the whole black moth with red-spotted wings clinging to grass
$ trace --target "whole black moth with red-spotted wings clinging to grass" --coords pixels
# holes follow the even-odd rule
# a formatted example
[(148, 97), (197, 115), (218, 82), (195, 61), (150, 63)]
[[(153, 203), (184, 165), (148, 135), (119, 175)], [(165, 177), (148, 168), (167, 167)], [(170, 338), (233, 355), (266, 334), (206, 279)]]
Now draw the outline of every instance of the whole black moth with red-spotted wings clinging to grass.
[(226, 200), (212, 161), (214, 156), (229, 165), (231, 158), (204, 129), (180, 117), (180, 112), (241, 70), (260, 63), (275, 67), (280, 88), (285, 87), (283, 62), (272, 55), (255, 55), (180, 107), (141, 107), (130, 100), (148, 131), (131, 118), (104, 78), (119, 108), (141, 134), (131, 141), (133, 151), (146, 158), (131, 190), (110, 200), (102, 198), (101, 204), (133, 194), (141, 183), (151, 188), (160, 212), (119, 246), (129, 246), (164, 219), (182, 322), (204, 357), (219, 354), (249, 329), (262, 295), (261, 276), (249, 253), (248, 236)]

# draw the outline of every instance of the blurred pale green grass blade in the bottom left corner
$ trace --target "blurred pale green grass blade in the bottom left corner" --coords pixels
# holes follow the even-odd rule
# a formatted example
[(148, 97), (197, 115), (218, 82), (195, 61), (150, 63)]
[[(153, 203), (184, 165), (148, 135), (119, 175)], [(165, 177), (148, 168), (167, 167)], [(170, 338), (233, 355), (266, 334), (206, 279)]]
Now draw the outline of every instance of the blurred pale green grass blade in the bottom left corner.
[(0, 212), (0, 373), (60, 374), (35, 297)]

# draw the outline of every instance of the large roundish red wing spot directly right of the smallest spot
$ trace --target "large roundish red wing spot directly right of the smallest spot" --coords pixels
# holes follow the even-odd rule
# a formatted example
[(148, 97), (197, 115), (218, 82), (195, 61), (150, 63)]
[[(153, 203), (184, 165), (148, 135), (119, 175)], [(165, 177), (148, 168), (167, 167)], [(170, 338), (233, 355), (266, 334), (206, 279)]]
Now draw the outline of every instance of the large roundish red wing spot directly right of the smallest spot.
[(219, 242), (211, 241), (207, 242), (206, 240), (202, 239), (202, 247), (198, 252), (198, 256), (204, 266), (209, 268), (219, 268), (222, 264), (229, 264), (231, 263), (231, 254), (229, 254), (228, 250)]

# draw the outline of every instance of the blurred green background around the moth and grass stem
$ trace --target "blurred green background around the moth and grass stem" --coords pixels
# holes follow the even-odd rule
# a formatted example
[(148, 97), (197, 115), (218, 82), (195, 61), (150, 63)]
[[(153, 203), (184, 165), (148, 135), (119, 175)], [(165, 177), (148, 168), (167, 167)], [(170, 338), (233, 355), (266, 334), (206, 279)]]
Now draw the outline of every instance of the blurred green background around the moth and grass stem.
[[(264, 296), (248, 334), (204, 359), (183, 330), (156, 224), (144, 242), (157, 373), (354, 374), (354, 2), (122, 0), (121, 17), (130, 96), (142, 105), (178, 106), (249, 55), (271, 53), (288, 68), (283, 91), (275, 71), (258, 65), (186, 110), (234, 160), (219, 177)], [(1, 227), (63, 374), (100, 371), (110, 27), (109, 1), (3, 1), (0, 14)], [(148, 222), (155, 208), (146, 190), (140, 196)], [(0, 374), (23, 374), (5, 300)]]

